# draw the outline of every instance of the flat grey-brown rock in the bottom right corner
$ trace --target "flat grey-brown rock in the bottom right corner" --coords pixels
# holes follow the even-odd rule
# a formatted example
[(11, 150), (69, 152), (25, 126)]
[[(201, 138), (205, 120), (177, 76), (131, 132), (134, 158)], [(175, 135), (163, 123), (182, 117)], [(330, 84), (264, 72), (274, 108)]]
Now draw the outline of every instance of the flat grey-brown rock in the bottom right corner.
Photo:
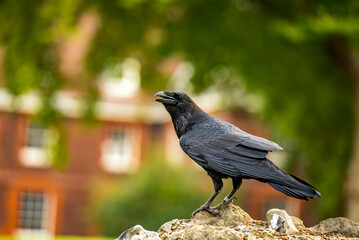
[(321, 233), (339, 233), (347, 237), (359, 237), (359, 223), (343, 217), (323, 220), (310, 229)]

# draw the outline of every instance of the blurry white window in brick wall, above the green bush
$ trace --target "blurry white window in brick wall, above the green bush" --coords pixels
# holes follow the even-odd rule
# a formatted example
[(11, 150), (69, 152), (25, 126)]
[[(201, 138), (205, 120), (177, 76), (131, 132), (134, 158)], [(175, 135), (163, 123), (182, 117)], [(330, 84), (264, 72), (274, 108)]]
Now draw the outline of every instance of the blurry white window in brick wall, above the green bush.
[(110, 127), (102, 145), (103, 168), (108, 172), (132, 171), (135, 167), (134, 131), (130, 127)]

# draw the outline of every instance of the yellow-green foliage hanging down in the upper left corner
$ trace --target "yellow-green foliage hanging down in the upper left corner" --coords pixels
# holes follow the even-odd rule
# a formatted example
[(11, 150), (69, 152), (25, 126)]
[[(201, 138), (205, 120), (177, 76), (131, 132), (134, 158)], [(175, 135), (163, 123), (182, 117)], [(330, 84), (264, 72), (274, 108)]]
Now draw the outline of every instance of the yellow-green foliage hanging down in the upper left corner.
[(36, 91), (42, 98), (35, 121), (58, 135), (51, 146), (53, 166), (64, 168), (66, 133), (54, 107), (56, 91), (64, 86), (59, 72), (59, 44), (76, 19), (76, 1), (0, 1), (0, 67), (3, 85), (16, 97)]

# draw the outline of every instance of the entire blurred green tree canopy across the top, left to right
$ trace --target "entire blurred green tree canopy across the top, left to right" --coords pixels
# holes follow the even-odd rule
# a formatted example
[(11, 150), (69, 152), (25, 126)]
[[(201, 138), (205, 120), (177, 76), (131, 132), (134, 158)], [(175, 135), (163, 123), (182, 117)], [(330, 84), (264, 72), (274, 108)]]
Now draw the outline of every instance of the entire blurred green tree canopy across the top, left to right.
[(0, 46), (10, 92), (36, 88), (51, 99), (63, 86), (56, 46), (85, 11), (101, 19), (87, 56), (92, 78), (106, 64), (133, 57), (142, 86), (163, 90), (169, 78), (163, 66), (175, 58), (194, 65), (196, 91), (218, 76), (223, 84), (240, 83), (263, 97), (263, 119), (295, 142), (297, 161), (323, 194), (322, 216), (342, 214), (354, 90), (337, 49), (358, 48), (358, 1), (2, 0)]

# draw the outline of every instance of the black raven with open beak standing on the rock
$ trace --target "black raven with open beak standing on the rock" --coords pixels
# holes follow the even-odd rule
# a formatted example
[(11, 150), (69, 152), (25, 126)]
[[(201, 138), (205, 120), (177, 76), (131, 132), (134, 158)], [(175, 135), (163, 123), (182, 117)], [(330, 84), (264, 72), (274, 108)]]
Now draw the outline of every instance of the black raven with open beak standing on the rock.
[(202, 210), (219, 215), (210, 204), (222, 190), (223, 178), (232, 178), (233, 189), (221, 204), (232, 202), (242, 179), (268, 183), (298, 199), (321, 196), (312, 185), (281, 170), (266, 158), (268, 152), (283, 150), (278, 144), (205, 113), (185, 93), (162, 91), (155, 96), (171, 115), (182, 150), (207, 171), (214, 184), (213, 195), (192, 216)]

